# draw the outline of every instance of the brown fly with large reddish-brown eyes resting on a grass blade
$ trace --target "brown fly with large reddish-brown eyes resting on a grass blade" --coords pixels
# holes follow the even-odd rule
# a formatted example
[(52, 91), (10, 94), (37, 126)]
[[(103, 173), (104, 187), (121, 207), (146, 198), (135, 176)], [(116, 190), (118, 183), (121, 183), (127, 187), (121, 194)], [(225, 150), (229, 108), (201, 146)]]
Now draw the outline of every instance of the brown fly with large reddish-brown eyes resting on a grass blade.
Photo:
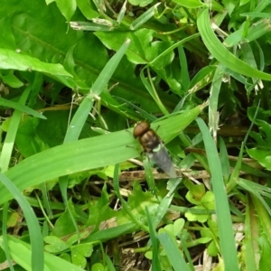
[(176, 178), (176, 172), (170, 155), (162, 140), (151, 128), (150, 124), (143, 121), (135, 125), (134, 137), (138, 138), (148, 157), (171, 178)]

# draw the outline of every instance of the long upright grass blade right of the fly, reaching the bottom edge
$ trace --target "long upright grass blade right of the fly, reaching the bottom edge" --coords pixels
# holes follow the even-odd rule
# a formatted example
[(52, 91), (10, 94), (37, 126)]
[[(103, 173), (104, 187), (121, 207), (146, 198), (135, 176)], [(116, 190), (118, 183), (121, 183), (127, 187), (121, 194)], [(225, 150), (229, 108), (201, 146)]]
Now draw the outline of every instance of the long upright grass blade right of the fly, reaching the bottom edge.
[(219, 224), (221, 255), (224, 260), (225, 270), (238, 271), (238, 257), (229, 212), (229, 202), (220, 164), (220, 156), (204, 121), (201, 118), (197, 118), (196, 121), (201, 129), (207, 159), (210, 166), (211, 183)]

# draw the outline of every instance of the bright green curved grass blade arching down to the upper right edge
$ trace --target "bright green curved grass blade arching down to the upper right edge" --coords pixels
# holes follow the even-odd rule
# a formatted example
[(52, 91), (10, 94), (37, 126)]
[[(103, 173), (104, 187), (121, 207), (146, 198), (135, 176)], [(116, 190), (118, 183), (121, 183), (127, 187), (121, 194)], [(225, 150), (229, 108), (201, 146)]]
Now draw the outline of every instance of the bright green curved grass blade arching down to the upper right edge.
[(197, 26), (201, 33), (201, 39), (207, 49), (220, 63), (238, 73), (248, 77), (271, 80), (271, 75), (249, 66), (246, 62), (239, 60), (233, 53), (220, 42), (210, 27), (209, 10), (203, 9), (198, 16)]

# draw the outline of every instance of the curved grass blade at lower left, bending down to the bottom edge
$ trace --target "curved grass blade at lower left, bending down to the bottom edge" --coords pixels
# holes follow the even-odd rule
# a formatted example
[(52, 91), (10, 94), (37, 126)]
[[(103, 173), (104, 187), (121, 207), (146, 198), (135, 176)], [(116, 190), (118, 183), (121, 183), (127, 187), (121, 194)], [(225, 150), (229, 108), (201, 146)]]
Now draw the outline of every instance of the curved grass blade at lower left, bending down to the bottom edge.
[[(0, 180), (5, 188), (12, 193), (14, 199), (19, 203), (23, 210), (25, 220), (29, 229), (31, 247), (32, 247), (32, 269), (33, 271), (42, 271), (44, 267), (43, 238), (39, 222), (31, 208), (30, 204), (23, 197), (22, 193), (16, 188), (14, 183), (0, 173)], [(12, 252), (10, 251), (11, 255)], [(12, 255), (13, 259), (14, 256)]]

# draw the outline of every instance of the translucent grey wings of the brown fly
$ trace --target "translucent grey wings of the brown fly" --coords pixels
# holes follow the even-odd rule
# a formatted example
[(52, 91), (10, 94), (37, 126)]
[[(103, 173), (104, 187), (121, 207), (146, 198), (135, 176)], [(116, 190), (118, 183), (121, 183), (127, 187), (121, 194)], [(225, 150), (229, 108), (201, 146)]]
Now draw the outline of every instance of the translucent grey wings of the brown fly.
[(172, 159), (164, 147), (164, 144), (160, 143), (152, 153), (148, 153), (148, 156), (164, 173), (167, 173), (171, 178), (177, 177)]

